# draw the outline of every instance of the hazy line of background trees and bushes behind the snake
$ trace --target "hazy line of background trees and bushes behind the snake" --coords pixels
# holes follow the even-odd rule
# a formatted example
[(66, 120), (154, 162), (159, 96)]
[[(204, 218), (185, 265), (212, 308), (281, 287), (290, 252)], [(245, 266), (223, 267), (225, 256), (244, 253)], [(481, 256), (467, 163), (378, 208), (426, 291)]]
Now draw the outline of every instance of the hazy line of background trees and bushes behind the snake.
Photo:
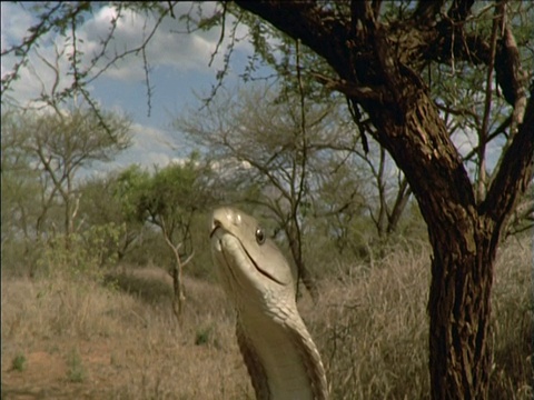
[[(349, 116), (336, 111), (342, 99), (306, 110), (303, 141), (299, 110), (293, 106), (298, 96), (285, 96), (265, 86), (221, 91), (208, 108), (191, 107), (175, 121), (187, 133), (189, 158), (99, 173), (92, 172), (93, 162), (112, 161), (131, 142), (126, 117), (105, 116), (110, 136), (88, 108), (58, 116), (6, 107), (2, 268), (47, 273), (37, 262), (43, 247), (61, 244), (68, 251), (71, 240), (97, 234), (101, 267), (146, 263), (151, 257), (170, 266), (195, 253), (190, 273), (207, 278), (205, 220), (220, 203), (241, 204), (270, 220), (271, 234), (295, 263), (298, 257), (313, 259), (313, 250), (370, 262), (398, 227), (400, 233), (419, 229), (424, 240), (414, 207), (405, 211), (407, 201), (395, 211), (406, 216), (405, 223), (396, 218), (385, 229), (384, 218), (406, 190), (402, 173), (374, 143), (362, 153)], [(266, 107), (256, 107), (259, 99)]]

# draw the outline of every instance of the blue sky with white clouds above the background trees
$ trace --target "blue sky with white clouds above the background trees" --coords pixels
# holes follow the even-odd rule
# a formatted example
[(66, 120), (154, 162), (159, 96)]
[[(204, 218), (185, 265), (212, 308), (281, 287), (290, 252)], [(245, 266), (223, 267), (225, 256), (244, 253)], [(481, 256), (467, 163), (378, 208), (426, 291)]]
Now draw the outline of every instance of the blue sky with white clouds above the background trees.
[[(207, 3), (204, 9), (209, 13), (215, 7), (215, 3)], [(179, 3), (175, 8), (175, 14), (178, 17), (190, 8), (189, 2)], [(100, 48), (99, 43), (107, 36), (111, 18), (116, 14), (116, 9), (102, 6), (92, 14), (88, 14), (79, 27), (77, 34), (83, 40), (80, 49), (86, 56), (86, 62)], [(230, 18), (227, 18), (228, 22), (231, 22)], [(28, 28), (36, 22), (37, 18), (30, 4), (2, 1), (2, 51), (27, 37)], [(121, 51), (139, 46), (155, 22), (155, 18), (146, 19), (145, 16), (125, 12), (118, 20), (115, 40), (110, 48)], [(187, 156), (188, 150), (182, 137), (171, 128), (171, 121), (186, 109), (198, 109), (201, 106), (199, 97), (210, 93), (212, 86), (217, 83), (217, 71), (224, 66), (224, 49), (229, 41), (225, 39), (221, 44), (222, 50), (219, 50), (210, 64), (220, 38), (220, 28), (192, 33), (185, 33), (185, 30), (184, 21), (178, 18), (166, 18), (147, 48), (152, 88), (150, 116), (148, 116), (147, 86), (141, 57), (134, 56), (118, 62), (90, 83), (89, 91), (102, 109), (126, 113), (132, 121), (134, 146), (103, 169), (120, 168), (132, 162), (147, 167), (165, 166), (172, 159)], [(244, 39), (247, 32), (245, 26), (239, 26), (236, 37)], [(40, 58), (55, 62), (56, 52), (65, 49), (65, 38), (58, 34), (49, 34), (40, 43), (38, 54), (31, 56), (28, 68), (21, 71), (20, 79), (13, 86), (12, 94), (20, 104), (27, 104), (43, 88), (50, 91), (55, 73)], [(237, 84), (238, 74), (244, 71), (247, 56), (251, 53), (253, 47), (247, 40), (235, 43), (230, 71), (224, 81), (226, 87), (231, 88)], [(66, 56), (63, 54), (58, 64), (61, 71), (60, 84), (63, 87), (70, 84)], [(12, 57), (2, 57), (2, 77), (12, 70), (13, 62)], [(93, 166), (93, 168), (99, 169), (102, 166)]]

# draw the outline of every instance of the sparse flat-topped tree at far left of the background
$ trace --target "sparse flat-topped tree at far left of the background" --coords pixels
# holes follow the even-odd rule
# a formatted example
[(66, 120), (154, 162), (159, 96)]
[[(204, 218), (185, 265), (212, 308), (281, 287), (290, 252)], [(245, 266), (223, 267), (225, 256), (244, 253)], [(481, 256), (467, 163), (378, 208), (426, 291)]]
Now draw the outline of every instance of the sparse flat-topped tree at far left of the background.
[[(2, 138), (17, 138), (17, 149), (13, 151), (29, 160), (29, 167), (34, 171), (34, 182), (40, 188), (36, 193), (40, 198), (40, 211), (32, 222), (37, 238), (46, 229), (47, 216), (53, 207), (62, 210), (65, 234), (68, 237), (75, 231), (79, 206), (76, 179), (79, 178), (80, 168), (97, 160), (110, 160), (128, 146), (128, 122), (111, 113), (103, 118), (112, 127), (111, 137), (108, 130), (101, 128), (99, 119), (83, 109), (60, 113), (18, 110), (9, 118), (14, 119), (14, 123), (7, 123), (8, 119), (6, 124), (2, 123)], [(24, 211), (20, 209), (20, 212), (23, 217)]]

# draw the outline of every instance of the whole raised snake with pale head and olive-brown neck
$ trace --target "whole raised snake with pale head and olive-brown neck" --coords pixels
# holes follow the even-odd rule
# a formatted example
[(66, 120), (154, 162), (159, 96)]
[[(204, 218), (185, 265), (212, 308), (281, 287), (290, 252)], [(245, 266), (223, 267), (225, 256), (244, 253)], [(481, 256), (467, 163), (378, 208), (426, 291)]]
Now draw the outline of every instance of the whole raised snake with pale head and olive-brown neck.
[(256, 397), (327, 399), (323, 362), (295, 302), (295, 278), (276, 244), (253, 217), (227, 207), (214, 211), (210, 239)]

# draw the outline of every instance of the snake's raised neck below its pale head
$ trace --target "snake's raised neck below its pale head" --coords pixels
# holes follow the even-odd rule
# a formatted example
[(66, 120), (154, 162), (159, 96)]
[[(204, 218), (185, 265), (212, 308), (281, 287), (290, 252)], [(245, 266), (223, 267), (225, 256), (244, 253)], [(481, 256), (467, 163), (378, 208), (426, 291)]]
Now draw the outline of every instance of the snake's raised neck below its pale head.
[(238, 312), (237, 330), (258, 399), (327, 399), (320, 356), (296, 308)]

